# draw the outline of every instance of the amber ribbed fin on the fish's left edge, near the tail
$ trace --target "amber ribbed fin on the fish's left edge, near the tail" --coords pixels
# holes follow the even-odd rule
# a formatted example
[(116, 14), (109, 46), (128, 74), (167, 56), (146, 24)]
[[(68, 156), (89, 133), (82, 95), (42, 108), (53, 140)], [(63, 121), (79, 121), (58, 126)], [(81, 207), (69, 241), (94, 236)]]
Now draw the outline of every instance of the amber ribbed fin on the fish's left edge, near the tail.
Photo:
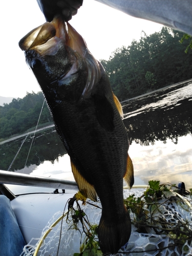
[(93, 201), (97, 201), (97, 193), (95, 191), (94, 186), (91, 185), (86, 179), (82, 177), (82, 175), (79, 173), (72, 160), (71, 168), (80, 193), (86, 198), (90, 198)]

